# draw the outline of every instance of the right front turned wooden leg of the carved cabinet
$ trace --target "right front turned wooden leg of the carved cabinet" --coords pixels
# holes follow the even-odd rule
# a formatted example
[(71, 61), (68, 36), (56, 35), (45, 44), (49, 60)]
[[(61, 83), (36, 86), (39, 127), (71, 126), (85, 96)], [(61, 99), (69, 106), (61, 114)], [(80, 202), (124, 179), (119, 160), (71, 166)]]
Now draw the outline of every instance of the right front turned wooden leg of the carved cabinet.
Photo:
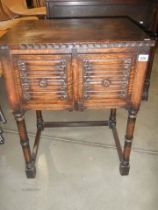
[(131, 147), (132, 147), (135, 121), (136, 121), (136, 111), (131, 110), (128, 115), (124, 150), (123, 150), (122, 161), (120, 163), (121, 175), (129, 174), (129, 169), (130, 169), (129, 160), (130, 160), (130, 152), (131, 152)]

